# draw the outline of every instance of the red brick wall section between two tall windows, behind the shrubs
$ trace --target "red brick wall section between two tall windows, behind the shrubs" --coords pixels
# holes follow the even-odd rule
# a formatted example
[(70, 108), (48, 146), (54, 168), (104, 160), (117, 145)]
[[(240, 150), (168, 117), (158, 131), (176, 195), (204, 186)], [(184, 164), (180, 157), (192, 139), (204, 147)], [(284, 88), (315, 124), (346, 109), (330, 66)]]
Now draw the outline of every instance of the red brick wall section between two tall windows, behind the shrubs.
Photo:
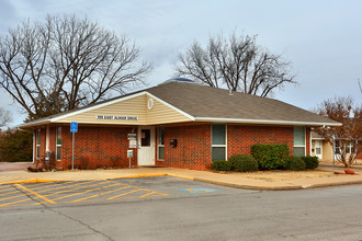
[(227, 125), (227, 157), (250, 154), (254, 144), (286, 144), (294, 149), (293, 127)]

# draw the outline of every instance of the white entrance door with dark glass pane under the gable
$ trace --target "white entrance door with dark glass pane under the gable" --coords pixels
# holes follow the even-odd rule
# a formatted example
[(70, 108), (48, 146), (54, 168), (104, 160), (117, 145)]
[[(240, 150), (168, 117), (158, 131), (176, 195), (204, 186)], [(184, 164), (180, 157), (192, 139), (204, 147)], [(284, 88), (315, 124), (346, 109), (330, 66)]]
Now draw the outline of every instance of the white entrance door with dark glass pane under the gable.
[(138, 165), (155, 165), (155, 127), (138, 127)]

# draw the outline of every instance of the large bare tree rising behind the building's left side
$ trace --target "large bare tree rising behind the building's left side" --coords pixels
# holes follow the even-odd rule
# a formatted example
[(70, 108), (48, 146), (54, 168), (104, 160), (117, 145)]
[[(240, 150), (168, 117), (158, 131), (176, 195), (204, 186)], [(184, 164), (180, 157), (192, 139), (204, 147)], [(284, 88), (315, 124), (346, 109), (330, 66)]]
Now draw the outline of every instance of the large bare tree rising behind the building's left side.
[(88, 19), (48, 15), (0, 38), (0, 87), (35, 119), (142, 84), (151, 67), (138, 57), (126, 35)]

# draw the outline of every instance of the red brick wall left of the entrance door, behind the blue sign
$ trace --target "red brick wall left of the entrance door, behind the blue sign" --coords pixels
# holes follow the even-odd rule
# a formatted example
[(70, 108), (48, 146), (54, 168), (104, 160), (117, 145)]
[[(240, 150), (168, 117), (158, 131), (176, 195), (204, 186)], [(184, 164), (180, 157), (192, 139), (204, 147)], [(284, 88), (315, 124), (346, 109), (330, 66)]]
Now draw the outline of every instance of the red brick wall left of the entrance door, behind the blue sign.
[[(132, 133), (131, 127), (87, 127), (78, 126), (75, 138), (75, 165), (88, 160), (88, 169), (103, 167), (128, 167), (127, 134)], [(61, 128), (61, 168), (71, 167), (71, 133), (70, 127)], [(137, 165), (137, 149), (134, 148), (132, 165)]]

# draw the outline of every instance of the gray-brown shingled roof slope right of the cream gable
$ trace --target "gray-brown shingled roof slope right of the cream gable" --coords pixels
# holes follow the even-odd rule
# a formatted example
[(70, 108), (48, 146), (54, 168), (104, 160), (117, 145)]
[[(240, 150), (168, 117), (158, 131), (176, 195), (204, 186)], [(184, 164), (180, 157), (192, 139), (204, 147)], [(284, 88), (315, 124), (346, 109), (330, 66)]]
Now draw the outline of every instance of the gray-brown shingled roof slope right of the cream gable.
[(166, 83), (149, 93), (194, 117), (337, 124), (284, 102), (199, 84)]

